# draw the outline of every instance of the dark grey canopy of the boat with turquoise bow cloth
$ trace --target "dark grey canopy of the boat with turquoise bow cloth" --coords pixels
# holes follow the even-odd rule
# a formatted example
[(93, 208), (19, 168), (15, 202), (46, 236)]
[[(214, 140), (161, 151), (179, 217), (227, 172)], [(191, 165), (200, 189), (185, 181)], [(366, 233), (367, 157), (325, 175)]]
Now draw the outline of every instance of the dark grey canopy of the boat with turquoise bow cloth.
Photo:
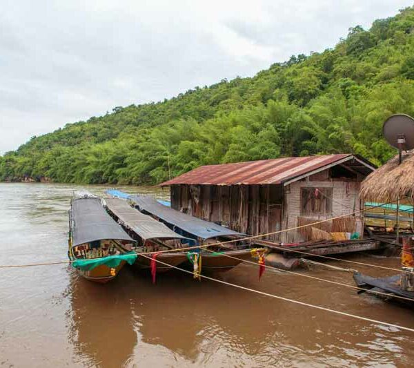
[(129, 240), (135, 242), (121, 225), (106, 213), (98, 197), (83, 197), (72, 200), (72, 246), (97, 240)]

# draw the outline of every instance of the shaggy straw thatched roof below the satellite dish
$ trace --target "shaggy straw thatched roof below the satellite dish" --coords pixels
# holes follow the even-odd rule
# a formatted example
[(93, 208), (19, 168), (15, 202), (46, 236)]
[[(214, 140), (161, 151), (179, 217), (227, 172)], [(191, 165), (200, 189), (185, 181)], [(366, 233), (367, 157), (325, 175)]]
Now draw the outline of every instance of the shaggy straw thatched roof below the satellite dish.
[(363, 200), (395, 202), (404, 197), (414, 198), (414, 150), (402, 153), (402, 163), (398, 162), (396, 155), (366, 177), (360, 191)]

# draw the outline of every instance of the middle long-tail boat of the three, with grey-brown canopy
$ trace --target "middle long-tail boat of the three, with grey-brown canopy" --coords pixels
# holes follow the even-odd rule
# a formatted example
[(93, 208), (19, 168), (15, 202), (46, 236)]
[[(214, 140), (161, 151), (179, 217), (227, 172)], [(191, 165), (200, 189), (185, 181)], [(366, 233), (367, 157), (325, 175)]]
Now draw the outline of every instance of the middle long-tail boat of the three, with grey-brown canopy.
[[(137, 268), (151, 268), (150, 258), (152, 255), (140, 257), (139, 253), (156, 254), (157, 260), (163, 262), (157, 264), (157, 273), (168, 271), (171, 269), (170, 266), (175, 267), (186, 262), (186, 253), (179, 251), (179, 249), (190, 246), (193, 243), (192, 240), (168, 229), (167, 226), (152, 217), (133, 209), (126, 200), (106, 198), (104, 204), (110, 215), (121, 224), (132, 238), (137, 240), (135, 251), (138, 258), (134, 264)], [(177, 251), (172, 251), (174, 249)], [(160, 251), (168, 252), (158, 253)]]

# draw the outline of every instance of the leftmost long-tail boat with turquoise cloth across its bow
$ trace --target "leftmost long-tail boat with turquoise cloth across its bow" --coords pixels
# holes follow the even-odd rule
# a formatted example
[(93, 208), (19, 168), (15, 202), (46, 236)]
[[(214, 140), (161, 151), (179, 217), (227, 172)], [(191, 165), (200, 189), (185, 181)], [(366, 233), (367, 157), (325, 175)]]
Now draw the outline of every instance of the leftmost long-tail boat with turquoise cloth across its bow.
[(70, 202), (68, 257), (83, 278), (105, 283), (137, 254), (133, 240), (106, 213), (101, 199), (81, 193)]

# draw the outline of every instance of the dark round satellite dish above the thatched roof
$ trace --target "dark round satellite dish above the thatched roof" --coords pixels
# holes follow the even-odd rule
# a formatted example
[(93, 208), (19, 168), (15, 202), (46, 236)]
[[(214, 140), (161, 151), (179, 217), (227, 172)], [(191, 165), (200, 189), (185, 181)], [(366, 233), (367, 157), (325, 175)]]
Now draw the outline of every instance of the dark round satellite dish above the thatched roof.
[(391, 115), (382, 126), (382, 135), (400, 152), (411, 150), (414, 148), (414, 119), (405, 114)]

